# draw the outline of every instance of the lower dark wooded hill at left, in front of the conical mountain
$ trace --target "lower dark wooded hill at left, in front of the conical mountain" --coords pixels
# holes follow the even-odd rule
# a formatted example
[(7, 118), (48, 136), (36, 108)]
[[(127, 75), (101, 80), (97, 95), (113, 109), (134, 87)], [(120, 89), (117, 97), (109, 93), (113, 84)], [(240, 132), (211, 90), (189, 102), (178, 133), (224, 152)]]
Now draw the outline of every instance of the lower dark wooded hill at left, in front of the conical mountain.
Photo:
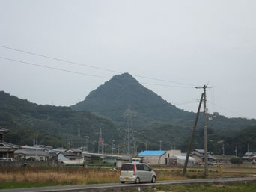
[[(111, 139), (121, 140), (111, 120), (69, 107), (37, 105), (3, 91), (0, 91), (0, 126), (10, 129), (4, 140), (19, 145), (32, 145), (38, 134), (42, 145), (79, 147), (85, 143), (83, 137), (89, 135), (89, 149), (96, 151), (100, 128), (106, 144), (110, 145)], [(110, 146), (107, 148), (110, 150)]]

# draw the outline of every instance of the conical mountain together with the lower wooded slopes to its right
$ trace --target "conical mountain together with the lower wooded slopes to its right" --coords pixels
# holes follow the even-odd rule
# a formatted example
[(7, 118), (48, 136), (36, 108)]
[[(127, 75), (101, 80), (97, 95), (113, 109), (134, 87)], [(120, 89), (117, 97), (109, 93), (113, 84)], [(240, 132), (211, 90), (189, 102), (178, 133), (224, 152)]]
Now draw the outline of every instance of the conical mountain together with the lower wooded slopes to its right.
[[(176, 145), (186, 151), (195, 121), (195, 113), (184, 111), (166, 102), (161, 96), (139, 84), (129, 73), (115, 75), (110, 81), (91, 91), (84, 101), (71, 108), (107, 117), (121, 128), (126, 126), (126, 113), (130, 108), (138, 149), (145, 149), (146, 141), (150, 143), (150, 149), (159, 149), (159, 140), (162, 140), (162, 149), (170, 149)], [(227, 118), (216, 113), (213, 120), (207, 123), (211, 140), (209, 149), (221, 154), (221, 146), (216, 144), (219, 140), (255, 125), (256, 120), (253, 119)], [(198, 136), (201, 135), (202, 128), (201, 114)], [(194, 146), (204, 147), (202, 135), (195, 140)]]

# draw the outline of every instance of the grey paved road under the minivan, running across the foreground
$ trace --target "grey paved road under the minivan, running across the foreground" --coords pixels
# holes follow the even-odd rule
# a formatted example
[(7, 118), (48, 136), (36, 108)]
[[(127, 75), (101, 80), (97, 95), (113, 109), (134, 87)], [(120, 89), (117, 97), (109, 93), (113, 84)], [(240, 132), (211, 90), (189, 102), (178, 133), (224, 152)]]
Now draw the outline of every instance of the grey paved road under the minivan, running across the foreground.
[(155, 184), (121, 184), (121, 183), (109, 183), (109, 184), (97, 184), (97, 185), (65, 185), (65, 186), (52, 186), (44, 188), (18, 188), (18, 189), (4, 189), (0, 192), (53, 192), (53, 191), (120, 191), (124, 189), (142, 189), (152, 188), (154, 185), (159, 184), (199, 184), (199, 183), (219, 183), (219, 182), (250, 182), (256, 181), (256, 177), (243, 177), (243, 178), (219, 178), (219, 179), (184, 179), (184, 180), (172, 180), (172, 181), (159, 181)]

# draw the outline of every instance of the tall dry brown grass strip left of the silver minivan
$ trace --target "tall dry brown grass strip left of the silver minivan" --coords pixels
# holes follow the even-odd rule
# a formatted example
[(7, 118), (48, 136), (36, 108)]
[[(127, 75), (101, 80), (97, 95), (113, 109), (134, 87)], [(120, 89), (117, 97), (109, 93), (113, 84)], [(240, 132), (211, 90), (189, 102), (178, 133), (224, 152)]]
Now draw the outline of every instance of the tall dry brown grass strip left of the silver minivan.
[(56, 185), (81, 185), (119, 182), (119, 172), (103, 168), (1, 168), (1, 182), (53, 182)]

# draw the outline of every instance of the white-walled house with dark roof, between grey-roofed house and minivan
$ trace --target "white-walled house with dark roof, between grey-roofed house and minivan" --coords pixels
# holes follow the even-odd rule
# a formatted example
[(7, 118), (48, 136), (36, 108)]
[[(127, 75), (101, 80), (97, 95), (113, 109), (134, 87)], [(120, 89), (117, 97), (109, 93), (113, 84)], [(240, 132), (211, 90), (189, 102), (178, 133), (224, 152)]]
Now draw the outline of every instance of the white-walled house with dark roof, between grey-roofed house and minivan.
[(84, 157), (80, 149), (67, 149), (64, 152), (58, 152), (58, 161), (63, 164), (84, 164)]

